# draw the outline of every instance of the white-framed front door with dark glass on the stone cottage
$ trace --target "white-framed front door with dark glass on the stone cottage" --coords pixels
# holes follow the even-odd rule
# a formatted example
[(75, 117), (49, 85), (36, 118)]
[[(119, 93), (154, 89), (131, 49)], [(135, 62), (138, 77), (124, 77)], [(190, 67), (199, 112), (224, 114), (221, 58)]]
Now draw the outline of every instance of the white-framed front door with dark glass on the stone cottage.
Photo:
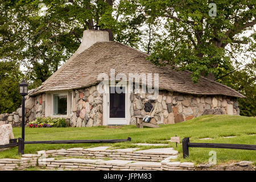
[(127, 124), (127, 86), (126, 84), (108, 86), (107, 107), (108, 125)]

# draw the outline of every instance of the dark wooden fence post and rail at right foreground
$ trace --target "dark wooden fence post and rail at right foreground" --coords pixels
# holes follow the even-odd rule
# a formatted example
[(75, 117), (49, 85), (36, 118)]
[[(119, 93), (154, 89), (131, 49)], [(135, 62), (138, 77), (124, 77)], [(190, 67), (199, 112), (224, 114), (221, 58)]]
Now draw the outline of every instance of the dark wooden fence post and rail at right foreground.
[(189, 138), (183, 138), (182, 150), (183, 158), (187, 158), (189, 155), (189, 147), (201, 147), (201, 148), (229, 148), (229, 149), (242, 149), (242, 150), (256, 150), (255, 144), (229, 144), (229, 143), (190, 143)]

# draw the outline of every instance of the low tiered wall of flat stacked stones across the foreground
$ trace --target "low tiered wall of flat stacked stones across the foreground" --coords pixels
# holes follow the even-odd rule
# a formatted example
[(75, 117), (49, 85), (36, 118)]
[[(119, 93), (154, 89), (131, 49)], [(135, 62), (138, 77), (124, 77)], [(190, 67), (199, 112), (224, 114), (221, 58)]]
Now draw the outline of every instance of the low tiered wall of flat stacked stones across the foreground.
[[(162, 148), (159, 148), (162, 149)], [(53, 170), (104, 170), (104, 171), (255, 171), (253, 162), (241, 161), (220, 165), (173, 161), (176, 155), (151, 154), (145, 150), (123, 148), (109, 150), (108, 147), (69, 148), (67, 150), (38, 151), (38, 154), (24, 154), (21, 159), (0, 159), (0, 171), (23, 170), (28, 167), (46, 167)], [(143, 153), (144, 151), (144, 153)], [(126, 158), (125, 156), (131, 156)], [(58, 158), (55, 158), (58, 156)], [(60, 156), (63, 156), (60, 158)], [(79, 157), (79, 158), (78, 158)], [(134, 157), (134, 158), (133, 158)], [(175, 158), (174, 158), (175, 157)]]

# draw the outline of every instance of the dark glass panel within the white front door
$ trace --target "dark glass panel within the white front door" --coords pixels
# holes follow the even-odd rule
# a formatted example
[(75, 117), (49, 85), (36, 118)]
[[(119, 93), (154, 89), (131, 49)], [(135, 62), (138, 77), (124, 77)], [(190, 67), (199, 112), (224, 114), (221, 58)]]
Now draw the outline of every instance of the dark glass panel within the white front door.
[(125, 92), (117, 93), (112, 86), (109, 91), (109, 118), (125, 118)]

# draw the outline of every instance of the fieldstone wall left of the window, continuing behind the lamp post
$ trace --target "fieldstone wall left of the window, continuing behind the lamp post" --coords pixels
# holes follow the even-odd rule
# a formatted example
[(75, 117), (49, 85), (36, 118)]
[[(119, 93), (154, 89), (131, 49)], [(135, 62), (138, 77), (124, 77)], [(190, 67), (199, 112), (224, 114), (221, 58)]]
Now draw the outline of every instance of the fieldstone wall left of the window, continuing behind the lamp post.
[[(31, 91), (30, 91), (31, 92)], [(36, 97), (25, 97), (25, 125), (34, 121), (37, 117), (45, 115), (46, 94)], [(22, 106), (11, 114), (0, 114), (0, 125), (11, 124), (12, 126), (22, 125)]]

